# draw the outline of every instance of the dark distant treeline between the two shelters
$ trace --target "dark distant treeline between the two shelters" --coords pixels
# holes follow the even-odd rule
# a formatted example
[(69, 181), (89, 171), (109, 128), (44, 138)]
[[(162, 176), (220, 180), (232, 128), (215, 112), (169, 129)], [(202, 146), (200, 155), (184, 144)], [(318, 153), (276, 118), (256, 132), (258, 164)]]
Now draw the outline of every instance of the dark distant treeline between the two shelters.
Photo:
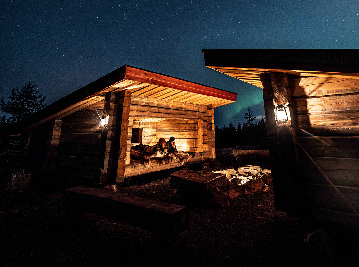
[(267, 128), (264, 118), (259, 122), (255, 120), (253, 112), (248, 108), (244, 115), (246, 122), (238, 122), (237, 128), (229, 124), (219, 128), (215, 127), (216, 148), (228, 148), (234, 146), (267, 146)]

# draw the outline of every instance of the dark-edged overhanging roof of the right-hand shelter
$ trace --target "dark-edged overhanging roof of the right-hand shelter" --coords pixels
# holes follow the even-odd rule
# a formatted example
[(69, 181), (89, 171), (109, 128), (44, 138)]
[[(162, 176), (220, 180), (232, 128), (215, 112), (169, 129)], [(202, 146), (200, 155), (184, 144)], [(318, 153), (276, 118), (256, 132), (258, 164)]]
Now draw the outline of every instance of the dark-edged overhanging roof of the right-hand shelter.
[(265, 72), (359, 78), (359, 49), (216, 49), (202, 53), (206, 67), (260, 88), (259, 76)]

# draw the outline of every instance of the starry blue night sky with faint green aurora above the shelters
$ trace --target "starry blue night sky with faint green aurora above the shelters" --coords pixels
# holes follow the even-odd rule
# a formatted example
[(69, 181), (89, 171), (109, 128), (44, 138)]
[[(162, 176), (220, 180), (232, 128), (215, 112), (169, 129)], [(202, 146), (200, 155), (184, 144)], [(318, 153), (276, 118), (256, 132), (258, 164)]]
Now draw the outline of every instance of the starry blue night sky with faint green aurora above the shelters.
[(6, 101), (31, 82), (50, 104), (128, 64), (238, 93), (219, 127), (264, 116), (262, 92), (206, 68), (202, 49), (359, 48), (357, 0), (0, 0), (0, 19)]

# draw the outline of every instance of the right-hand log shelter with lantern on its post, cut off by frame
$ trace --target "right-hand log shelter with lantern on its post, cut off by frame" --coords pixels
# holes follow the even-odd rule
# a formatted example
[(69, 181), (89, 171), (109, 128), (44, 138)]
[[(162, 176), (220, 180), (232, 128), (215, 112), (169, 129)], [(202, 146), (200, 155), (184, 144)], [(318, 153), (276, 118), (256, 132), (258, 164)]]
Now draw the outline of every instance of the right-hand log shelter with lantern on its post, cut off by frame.
[(359, 50), (202, 53), (262, 89), (276, 209), (359, 226)]

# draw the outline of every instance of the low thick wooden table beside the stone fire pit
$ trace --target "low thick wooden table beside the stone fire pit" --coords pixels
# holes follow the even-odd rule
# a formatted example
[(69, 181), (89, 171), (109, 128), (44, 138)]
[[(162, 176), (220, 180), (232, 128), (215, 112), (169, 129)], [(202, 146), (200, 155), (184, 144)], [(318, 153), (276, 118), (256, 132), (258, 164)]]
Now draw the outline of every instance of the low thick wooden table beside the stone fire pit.
[(225, 174), (183, 169), (169, 176), (169, 186), (175, 188), (171, 195), (182, 193), (209, 193), (222, 207), (229, 205), (223, 186), (227, 183)]

